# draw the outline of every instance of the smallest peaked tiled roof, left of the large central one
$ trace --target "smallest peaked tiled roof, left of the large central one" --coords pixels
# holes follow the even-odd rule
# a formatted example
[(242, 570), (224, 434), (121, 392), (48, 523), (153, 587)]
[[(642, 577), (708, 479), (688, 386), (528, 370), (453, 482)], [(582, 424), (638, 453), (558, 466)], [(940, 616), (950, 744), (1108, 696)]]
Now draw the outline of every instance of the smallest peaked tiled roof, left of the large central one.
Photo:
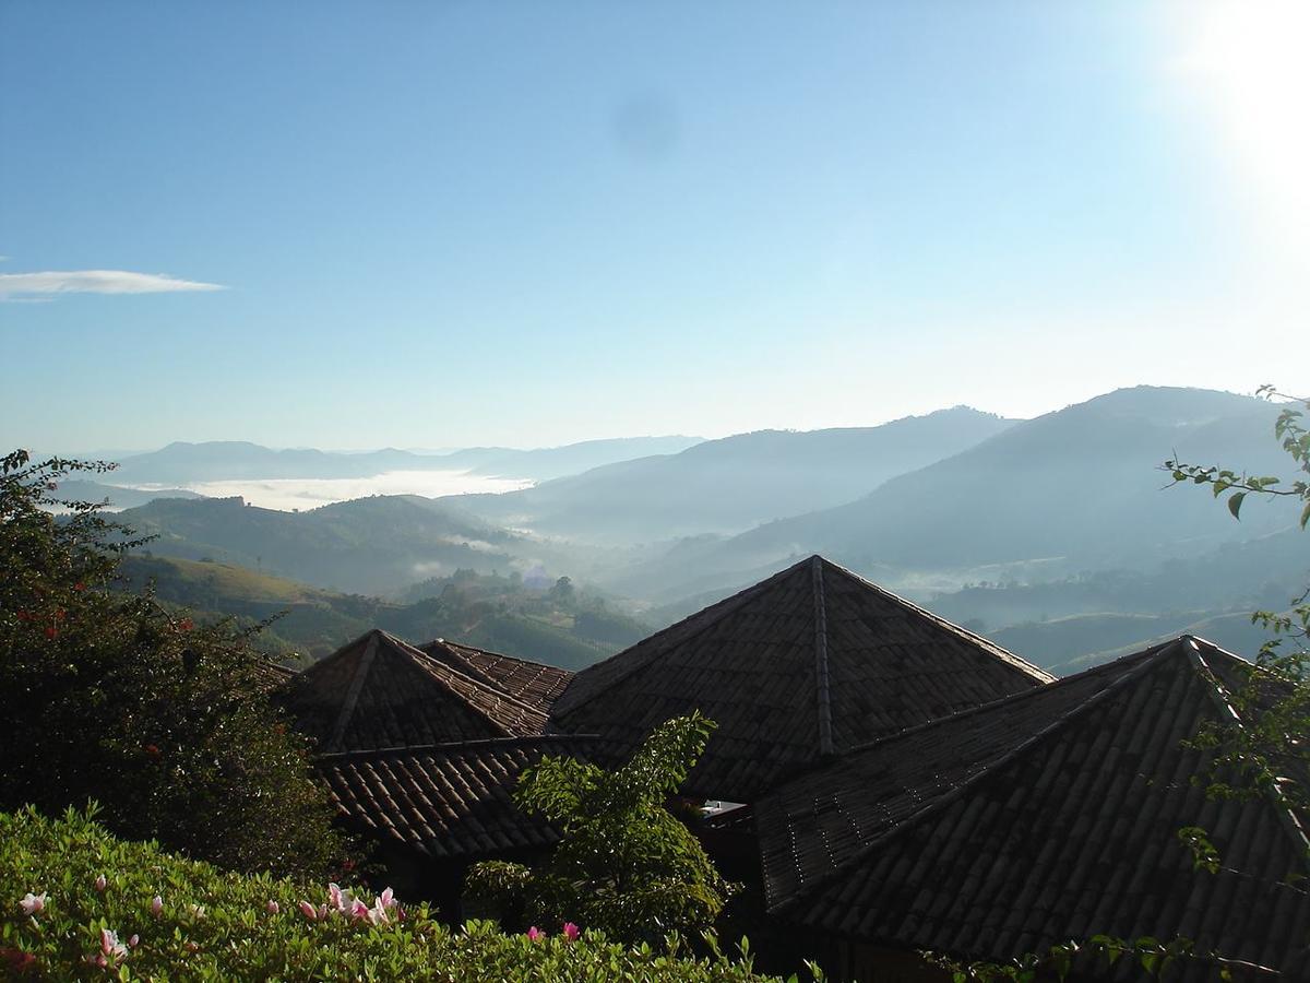
[(532, 737), (546, 714), (373, 629), (290, 680), (283, 701), (322, 752)]

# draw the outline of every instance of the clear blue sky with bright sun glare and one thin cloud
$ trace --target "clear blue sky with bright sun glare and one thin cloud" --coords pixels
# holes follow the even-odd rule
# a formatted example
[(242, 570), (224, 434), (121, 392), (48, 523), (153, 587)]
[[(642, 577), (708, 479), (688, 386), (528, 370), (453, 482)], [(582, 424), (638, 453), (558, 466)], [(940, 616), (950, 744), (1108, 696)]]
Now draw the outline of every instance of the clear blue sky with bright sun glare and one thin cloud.
[(1307, 48), (1298, 0), (5, 0), (0, 447), (1303, 391)]

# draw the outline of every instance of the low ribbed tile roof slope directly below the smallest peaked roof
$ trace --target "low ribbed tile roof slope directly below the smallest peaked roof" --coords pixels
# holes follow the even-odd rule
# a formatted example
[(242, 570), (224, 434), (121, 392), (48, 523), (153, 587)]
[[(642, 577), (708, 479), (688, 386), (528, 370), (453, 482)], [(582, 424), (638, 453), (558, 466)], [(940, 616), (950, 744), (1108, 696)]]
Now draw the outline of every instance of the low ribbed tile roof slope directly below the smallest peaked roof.
[(355, 828), (435, 858), (490, 856), (558, 839), (511, 794), (542, 755), (586, 758), (587, 746), (572, 737), (470, 741), (322, 755), (316, 768)]

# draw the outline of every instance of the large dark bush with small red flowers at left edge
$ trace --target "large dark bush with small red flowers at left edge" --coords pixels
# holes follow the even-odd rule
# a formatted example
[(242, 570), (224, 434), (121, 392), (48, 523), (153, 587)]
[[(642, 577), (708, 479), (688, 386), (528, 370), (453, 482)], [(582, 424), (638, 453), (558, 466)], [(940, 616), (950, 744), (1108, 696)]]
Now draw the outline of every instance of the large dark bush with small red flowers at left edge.
[[(69, 472), (0, 459), (0, 810), (101, 803), (131, 839), (238, 870), (325, 870), (339, 856), (307, 743), (272, 708), (274, 670), (231, 624), (202, 626), (110, 588), (141, 540), (56, 498)], [(54, 510), (64, 510), (62, 516)]]

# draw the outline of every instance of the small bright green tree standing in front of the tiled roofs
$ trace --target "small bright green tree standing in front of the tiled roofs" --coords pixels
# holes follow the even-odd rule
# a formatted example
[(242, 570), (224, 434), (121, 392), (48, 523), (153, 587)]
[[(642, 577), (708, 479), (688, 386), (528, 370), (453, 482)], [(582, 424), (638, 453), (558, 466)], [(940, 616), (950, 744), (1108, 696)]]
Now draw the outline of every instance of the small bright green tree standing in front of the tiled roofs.
[(713, 727), (700, 713), (671, 720), (614, 771), (542, 758), (520, 777), (515, 801), (555, 824), (559, 845), (536, 869), (474, 865), (469, 894), (495, 902), (507, 921), (575, 921), (627, 941), (709, 929), (734, 889), (665, 802)]

